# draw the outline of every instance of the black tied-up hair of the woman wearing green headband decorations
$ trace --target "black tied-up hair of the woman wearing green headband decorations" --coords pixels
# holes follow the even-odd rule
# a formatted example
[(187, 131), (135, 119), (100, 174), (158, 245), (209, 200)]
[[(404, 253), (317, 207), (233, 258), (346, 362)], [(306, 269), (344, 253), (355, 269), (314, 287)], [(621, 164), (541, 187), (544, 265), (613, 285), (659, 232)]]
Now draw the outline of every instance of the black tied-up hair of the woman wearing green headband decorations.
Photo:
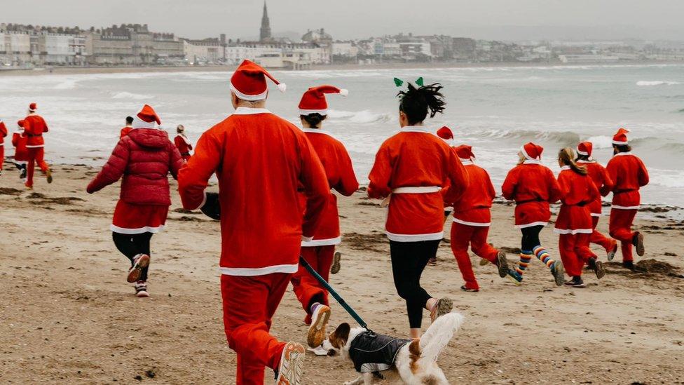
[(444, 95), (439, 93), (442, 84), (434, 83), (427, 86), (420, 86), (416, 88), (409, 83), (409, 89), (400, 91), (399, 97), (399, 111), (406, 114), (409, 119), (409, 124), (413, 125), (420, 123), (427, 117), (427, 111), (430, 110), (430, 118), (434, 118), (437, 112), (440, 114), (444, 112)]

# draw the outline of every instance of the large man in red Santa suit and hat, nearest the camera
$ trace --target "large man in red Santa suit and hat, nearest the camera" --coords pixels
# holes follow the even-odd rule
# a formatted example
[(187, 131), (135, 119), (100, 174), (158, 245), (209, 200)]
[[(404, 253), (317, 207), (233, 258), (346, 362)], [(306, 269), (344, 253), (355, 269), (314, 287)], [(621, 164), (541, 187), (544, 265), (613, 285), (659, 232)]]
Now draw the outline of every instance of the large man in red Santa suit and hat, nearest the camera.
[[(178, 190), (186, 209), (220, 210), (221, 296), (228, 346), (238, 354), (236, 384), (263, 384), (266, 366), (275, 370), (276, 384), (301, 384), (304, 347), (280, 342), (270, 329), (299, 269), (301, 242), (313, 240), (331, 193), (306, 135), (265, 108), (267, 78), (285, 90), (254, 62), (235, 70), (235, 113), (200, 137)], [(206, 193), (214, 173), (219, 193)], [(325, 325), (314, 332), (318, 346)]]

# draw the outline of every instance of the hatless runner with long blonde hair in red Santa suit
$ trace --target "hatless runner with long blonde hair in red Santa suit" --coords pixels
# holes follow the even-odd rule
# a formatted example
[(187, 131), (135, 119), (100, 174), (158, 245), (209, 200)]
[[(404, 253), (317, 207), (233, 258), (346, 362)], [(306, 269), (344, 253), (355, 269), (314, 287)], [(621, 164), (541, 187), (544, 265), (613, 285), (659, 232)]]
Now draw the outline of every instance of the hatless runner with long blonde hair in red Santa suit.
[(596, 271), (596, 278), (606, 275), (603, 263), (589, 249), (589, 237), (594, 231), (589, 205), (601, 198), (596, 184), (587, 175), (587, 168), (580, 167), (573, 160), (573, 149), (566, 147), (558, 153), (561, 173), (558, 183), (561, 187), (561, 210), (556, 218), (554, 233), (559, 236), (559, 251), (563, 267), (572, 279), (566, 285), (584, 288), (582, 269), (588, 264)]

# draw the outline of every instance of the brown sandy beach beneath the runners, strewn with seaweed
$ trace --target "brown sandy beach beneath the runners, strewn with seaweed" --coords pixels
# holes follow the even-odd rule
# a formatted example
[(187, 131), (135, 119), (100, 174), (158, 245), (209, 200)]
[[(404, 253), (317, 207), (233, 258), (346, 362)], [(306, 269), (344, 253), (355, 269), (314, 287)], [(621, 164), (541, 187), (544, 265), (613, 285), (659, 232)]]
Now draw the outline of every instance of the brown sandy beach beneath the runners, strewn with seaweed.
[[(174, 192), (167, 229), (153, 238), (151, 297), (139, 299), (109, 231), (118, 186), (85, 192), (97, 170), (57, 166), (55, 182), (41, 178), (32, 192), (9, 164), (0, 177), (0, 383), (234, 384), (235, 354), (221, 320), (218, 223), (180, 210)], [(376, 332), (406, 337), (384, 209), (361, 191), (339, 201), (343, 266), (331, 284)], [(493, 208), (495, 246), (519, 245), (512, 209)], [(587, 272), (585, 289), (556, 288), (538, 261), (516, 287), (473, 257), (481, 291), (460, 292), (462, 278), (443, 244), (423, 285), (452, 297), (467, 318), (439, 358), (451, 384), (684, 384), (684, 224), (639, 220), (638, 227), (647, 246), (638, 260), (657, 259), (663, 269), (631, 273), (611, 263), (600, 282)], [(542, 242), (556, 257), (550, 227)], [(331, 325), (353, 322), (338, 304), (332, 308)], [(273, 334), (306, 342), (303, 316), (288, 290)], [(424, 319), (426, 327), (427, 313)], [(303, 383), (353, 377), (340, 358), (308, 356)], [(266, 384), (272, 378), (267, 370)]]

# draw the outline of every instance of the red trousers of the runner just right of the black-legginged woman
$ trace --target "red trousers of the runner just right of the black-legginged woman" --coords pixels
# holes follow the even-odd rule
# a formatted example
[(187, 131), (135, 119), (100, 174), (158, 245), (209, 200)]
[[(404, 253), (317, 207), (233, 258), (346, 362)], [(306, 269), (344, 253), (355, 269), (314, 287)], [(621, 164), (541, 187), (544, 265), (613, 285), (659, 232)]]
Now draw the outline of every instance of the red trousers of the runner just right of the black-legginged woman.
[(451, 224), (451, 251), (456, 257), (456, 263), (466, 288), (479, 290), (477, 279), (472, 272), (472, 264), (470, 264), (468, 245), (478, 257), (487, 259), (491, 263), (496, 262), (499, 250), (487, 243), (487, 234), (489, 234), (488, 226), (468, 226), (458, 222)]

